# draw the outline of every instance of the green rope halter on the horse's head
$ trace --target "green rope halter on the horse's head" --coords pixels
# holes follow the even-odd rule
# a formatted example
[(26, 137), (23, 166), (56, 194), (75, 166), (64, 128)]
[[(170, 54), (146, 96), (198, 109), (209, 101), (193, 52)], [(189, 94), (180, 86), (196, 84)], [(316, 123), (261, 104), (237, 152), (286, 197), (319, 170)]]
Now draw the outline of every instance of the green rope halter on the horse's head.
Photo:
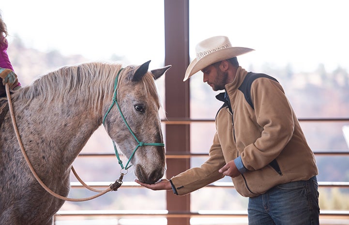
[(132, 157), (135, 155), (135, 152), (136, 150), (138, 149), (138, 147), (141, 147), (141, 146), (146, 146), (146, 145), (152, 145), (152, 146), (161, 146), (161, 147), (164, 147), (165, 144), (164, 143), (144, 143), (144, 142), (141, 142), (137, 139), (135, 133), (133, 133), (133, 131), (131, 130), (130, 126), (128, 125), (128, 123), (126, 122), (122, 112), (121, 112), (121, 109), (120, 109), (120, 106), (118, 104), (118, 101), (117, 101), (117, 98), (116, 98), (116, 94), (117, 94), (117, 86), (118, 86), (118, 78), (119, 78), (119, 75), (121, 73), (123, 68), (121, 68), (121, 70), (119, 70), (118, 72), (118, 75), (116, 75), (116, 78), (115, 78), (115, 83), (114, 83), (114, 96), (113, 96), (113, 99), (112, 99), (112, 103), (109, 107), (109, 109), (106, 111), (106, 115), (104, 115), (104, 118), (103, 118), (103, 125), (104, 125), (104, 122), (106, 120), (106, 116), (108, 115), (108, 113), (110, 112), (111, 108), (114, 106), (114, 104), (116, 106), (118, 106), (118, 109), (119, 109), (119, 112), (120, 112), (120, 115), (121, 115), (121, 118), (122, 120), (124, 121), (124, 123), (126, 124), (128, 130), (130, 131), (131, 135), (135, 138), (135, 140), (137, 141), (138, 145), (136, 146), (135, 150), (132, 152), (130, 158), (128, 159), (127, 163), (125, 166), (122, 165), (122, 161), (120, 159), (120, 156), (119, 156), (119, 152), (116, 148), (116, 145), (115, 145), (115, 142), (113, 141), (113, 146), (114, 146), (114, 151), (115, 151), (115, 154), (116, 154), (116, 157), (118, 158), (119, 160), (119, 164), (121, 165), (121, 169), (125, 169), (127, 170), (128, 168), (130, 168), (132, 165), (128, 165), (132, 159)]

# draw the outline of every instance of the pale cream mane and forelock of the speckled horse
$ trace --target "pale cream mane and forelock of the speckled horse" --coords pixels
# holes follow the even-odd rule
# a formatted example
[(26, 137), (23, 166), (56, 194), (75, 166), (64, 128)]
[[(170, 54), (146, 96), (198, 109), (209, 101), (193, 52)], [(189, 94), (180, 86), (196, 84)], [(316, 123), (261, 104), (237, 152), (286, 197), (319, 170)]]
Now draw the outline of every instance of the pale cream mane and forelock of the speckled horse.
[[(25, 100), (29, 105), (33, 99), (38, 99), (41, 106), (49, 105), (53, 100), (64, 103), (68, 98), (84, 99), (87, 107), (99, 110), (104, 96), (111, 96), (114, 91), (115, 77), (122, 65), (109, 62), (87, 62), (73, 66), (64, 66), (47, 75), (40, 76), (29, 86), (13, 94), (13, 101)], [(119, 78), (122, 85), (124, 79), (130, 79), (127, 74), (135, 66), (124, 68)], [(147, 73), (142, 79), (146, 96), (155, 96), (160, 105), (153, 76)], [(111, 101), (111, 99), (110, 99)]]

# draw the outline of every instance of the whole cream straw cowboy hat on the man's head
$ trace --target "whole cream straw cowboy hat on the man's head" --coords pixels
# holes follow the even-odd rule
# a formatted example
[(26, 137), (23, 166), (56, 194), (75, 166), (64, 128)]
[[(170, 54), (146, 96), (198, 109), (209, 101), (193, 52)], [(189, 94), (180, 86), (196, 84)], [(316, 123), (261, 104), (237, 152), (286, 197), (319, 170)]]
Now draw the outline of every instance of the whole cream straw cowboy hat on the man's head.
[(186, 81), (198, 71), (215, 62), (228, 60), (247, 52), (254, 51), (254, 49), (246, 47), (232, 47), (228, 37), (215, 36), (198, 43), (195, 51), (197, 53), (197, 58), (189, 64), (187, 70), (185, 71), (183, 81)]

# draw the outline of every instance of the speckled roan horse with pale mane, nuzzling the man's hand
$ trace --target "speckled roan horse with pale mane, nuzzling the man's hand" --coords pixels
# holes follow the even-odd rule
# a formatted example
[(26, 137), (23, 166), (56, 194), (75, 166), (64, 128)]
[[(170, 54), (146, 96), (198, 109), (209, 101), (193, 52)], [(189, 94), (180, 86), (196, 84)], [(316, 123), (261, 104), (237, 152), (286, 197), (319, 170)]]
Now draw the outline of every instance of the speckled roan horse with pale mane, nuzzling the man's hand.
[[(170, 65), (148, 71), (149, 63), (124, 68), (111, 62), (63, 66), (11, 94), (25, 152), (49, 189), (58, 195), (69, 194), (71, 166), (102, 123), (118, 150), (130, 159), (138, 180), (154, 183), (163, 177), (163, 144), (138, 143), (140, 147), (133, 151), (135, 137), (147, 143), (163, 143), (155, 80)], [(112, 107), (113, 101), (120, 111)], [(6, 98), (0, 99), (0, 105), (4, 104)], [(51, 225), (64, 200), (50, 195), (35, 180), (9, 114), (2, 113), (0, 118), (0, 224)]]

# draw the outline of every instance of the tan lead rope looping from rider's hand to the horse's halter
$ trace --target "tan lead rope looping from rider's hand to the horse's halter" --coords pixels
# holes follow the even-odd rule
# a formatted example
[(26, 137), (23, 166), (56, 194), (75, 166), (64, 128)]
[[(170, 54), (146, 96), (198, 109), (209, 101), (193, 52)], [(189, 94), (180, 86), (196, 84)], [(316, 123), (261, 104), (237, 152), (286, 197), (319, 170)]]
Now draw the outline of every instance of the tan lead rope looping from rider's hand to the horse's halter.
[(30, 168), (30, 171), (31, 173), (33, 174), (33, 176), (35, 177), (35, 179), (40, 183), (40, 185), (51, 195), (59, 198), (59, 199), (62, 199), (62, 200), (65, 200), (65, 201), (73, 201), (73, 202), (81, 202), (81, 201), (87, 201), (87, 200), (91, 200), (93, 198), (96, 198), (98, 196), (101, 196), (101, 195), (104, 195), (106, 194), (107, 192), (110, 192), (110, 191), (116, 191), (120, 186), (121, 186), (121, 183), (122, 183), (122, 177), (123, 177), (123, 174), (121, 174), (120, 176), (120, 179), (119, 180), (116, 180), (114, 184), (111, 184), (108, 188), (106, 188), (106, 190), (104, 191), (101, 191), (101, 190), (96, 190), (94, 188), (91, 188), (90, 186), (88, 186), (86, 183), (84, 183), (76, 174), (76, 171), (75, 169), (73, 168), (72, 166), (72, 171), (74, 173), (74, 175), (76, 176), (77, 180), (79, 180), (86, 188), (88, 188), (89, 190), (91, 191), (94, 191), (94, 192), (100, 192), (99, 194), (97, 195), (93, 195), (91, 197), (86, 197), (86, 198), (69, 198), (69, 197), (64, 197), (64, 196), (61, 196), (61, 195), (58, 195), (56, 194), (55, 192), (51, 191), (51, 189), (49, 189), (45, 183), (39, 178), (39, 176), (37, 175), (37, 173), (35, 172), (34, 168), (32, 167), (32, 165), (30, 164), (30, 161), (29, 161), (29, 158), (27, 156), (27, 153), (26, 151), (24, 150), (24, 147), (23, 147), (23, 144), (22, 144), (22, 141), (21, 141), (21, 138), (19, 136), (19, 133), (18, 133), (18, 129), (17, 129), (17, 124), (16, 124), (16, 121), (15, 121), (15, 116), (14, 116), (14, 112), (13, 112), (13, 108), (12, 108), (12, 101), (11, 101), (11, 95), (10, 95), (10, 90), (9, 90), (9, 85), (6, 84), (5, 85), (6, 87), (6, 95), (7, 95), (7, 101), (8, 101), (8, 104), (9, 104), (9, 109), (10, 109), (10, 114), (11, 114), (11, 120), (12, 120), (12, 124), (13, 124), (13, 127), (14, 127), (14, 130), (15, 130), (15, 135), (17, 137), (17, 140), (18, 140), (18, 144), (19, 144), (19, 147), (22, 151), (22, 154)]

